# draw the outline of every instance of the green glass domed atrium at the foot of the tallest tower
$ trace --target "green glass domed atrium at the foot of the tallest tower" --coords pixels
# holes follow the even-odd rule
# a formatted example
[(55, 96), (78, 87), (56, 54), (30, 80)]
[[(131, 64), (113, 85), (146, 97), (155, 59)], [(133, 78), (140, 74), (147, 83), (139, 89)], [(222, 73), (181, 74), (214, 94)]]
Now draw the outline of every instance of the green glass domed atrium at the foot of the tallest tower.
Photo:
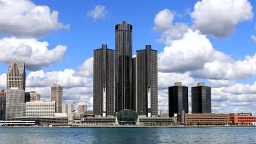
[(118, 124), (137, 124), (138, 113), (133, 110), (121, 110), (117, 114)]

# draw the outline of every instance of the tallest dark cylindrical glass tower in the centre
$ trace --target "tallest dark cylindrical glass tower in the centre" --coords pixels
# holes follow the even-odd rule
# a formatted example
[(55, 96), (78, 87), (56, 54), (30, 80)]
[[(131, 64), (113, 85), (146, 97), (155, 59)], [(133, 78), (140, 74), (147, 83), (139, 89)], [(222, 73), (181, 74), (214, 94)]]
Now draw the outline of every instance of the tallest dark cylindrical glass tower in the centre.
[(115, 26), (115, 111), (132, 109), (132, 25)]

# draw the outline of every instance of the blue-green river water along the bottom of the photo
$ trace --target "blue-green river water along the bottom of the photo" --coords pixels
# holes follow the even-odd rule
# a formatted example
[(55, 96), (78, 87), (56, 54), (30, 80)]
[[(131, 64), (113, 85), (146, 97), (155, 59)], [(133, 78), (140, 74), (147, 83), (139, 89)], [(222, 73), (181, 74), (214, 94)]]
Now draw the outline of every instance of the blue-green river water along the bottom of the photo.
[(0, 143), (256, 143), (256, 128), (0, 128)]

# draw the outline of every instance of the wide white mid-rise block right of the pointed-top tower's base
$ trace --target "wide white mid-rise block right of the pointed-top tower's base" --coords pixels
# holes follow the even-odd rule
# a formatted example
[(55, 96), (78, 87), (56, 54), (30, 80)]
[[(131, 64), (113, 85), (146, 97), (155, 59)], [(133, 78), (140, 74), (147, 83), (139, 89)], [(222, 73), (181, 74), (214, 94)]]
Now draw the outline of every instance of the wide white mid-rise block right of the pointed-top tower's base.
[(28, 101), (26, 117), (54, 117), (55, 101)]

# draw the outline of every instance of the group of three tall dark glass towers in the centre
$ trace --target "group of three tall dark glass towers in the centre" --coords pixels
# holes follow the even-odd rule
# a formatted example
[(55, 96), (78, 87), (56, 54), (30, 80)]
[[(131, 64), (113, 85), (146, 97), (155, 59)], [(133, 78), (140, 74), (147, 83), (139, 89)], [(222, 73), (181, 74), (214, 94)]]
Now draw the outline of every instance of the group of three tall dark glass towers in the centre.
[(146, 45), (133, 58), (132, 25), (126, 21), (115, 26), (115, 51), (106, 44), (94, 50), (93, 93), (94, 115), (114, 116), (125, 109), (158, 115), (158, 52)]

